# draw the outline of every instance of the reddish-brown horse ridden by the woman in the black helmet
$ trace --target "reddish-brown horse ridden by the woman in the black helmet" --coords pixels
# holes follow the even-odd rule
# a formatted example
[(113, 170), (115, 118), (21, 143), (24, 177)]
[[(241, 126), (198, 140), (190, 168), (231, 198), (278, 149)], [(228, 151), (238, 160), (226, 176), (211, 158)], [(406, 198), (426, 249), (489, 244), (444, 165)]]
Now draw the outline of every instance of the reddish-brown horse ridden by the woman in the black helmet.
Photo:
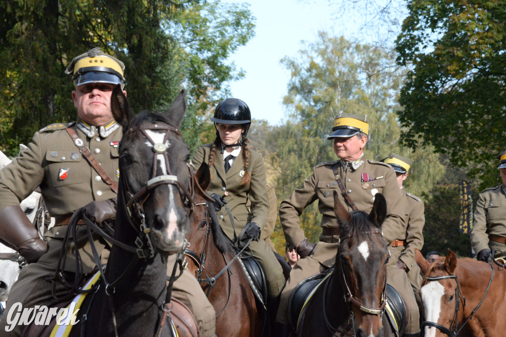
[[(197, 171), (200, 186), (209, 182), (209, 168)], [(231, 240), (223, 233), (212, 203), (196, 196), (190, 231), (186, 239), (188, 269), (197, 277), (202, 290), (216, 311), (218, 336), (259, 336), (263, 319), (255, 296), (242, 271)]]

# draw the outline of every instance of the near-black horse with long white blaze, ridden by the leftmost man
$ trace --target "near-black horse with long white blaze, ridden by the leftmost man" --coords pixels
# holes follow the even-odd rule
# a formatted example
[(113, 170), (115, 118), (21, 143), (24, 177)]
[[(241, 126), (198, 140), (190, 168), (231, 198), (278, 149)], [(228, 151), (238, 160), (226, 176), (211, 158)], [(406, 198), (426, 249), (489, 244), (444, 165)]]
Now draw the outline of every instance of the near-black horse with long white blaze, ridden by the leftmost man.
[(112, 248), (99, 286), (82, 303), (70, 335), (170, 336), (167, 256), (182, 251), (193, 196), (203, 193), (179, 131), (184, 90), (167, 113), (134, 116), (117, 85), (111, 109), (123, 127), (114, 238), (107, 239)]

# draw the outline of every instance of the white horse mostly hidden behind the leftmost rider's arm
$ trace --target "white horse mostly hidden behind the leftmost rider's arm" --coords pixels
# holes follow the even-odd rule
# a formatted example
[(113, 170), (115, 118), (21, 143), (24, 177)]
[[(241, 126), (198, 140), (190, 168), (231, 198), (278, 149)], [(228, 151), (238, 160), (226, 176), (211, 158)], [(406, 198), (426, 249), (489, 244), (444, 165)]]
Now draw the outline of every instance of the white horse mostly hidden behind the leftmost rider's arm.
[[(22, 144), (19, 147), (20, 152), (26, 149), (26, 147)], [(9, 159), (2, 151), (0, 151), (0, 169), (7, 166), (10, 162), (11, 159)], [(23, 212), (25, 212), (28, 220), (30, 220), (32, 223), (35, 220), (35, 215), (37, 214), (39, 200), (41, 197), (42, 195), (39, 192), (34, 191), (20, 203), (21, 209)], [(51, 218), (50, 227), (53, 224), (54, 218)], [(0, 253), (15, 254), (16, 251), (0, 243)], [(17, 261), (0, 259), (0, 301), (7, 301), (7, 296), (11, 290), (11, 286), (18, 279), (19, 270), (20, 266)]]

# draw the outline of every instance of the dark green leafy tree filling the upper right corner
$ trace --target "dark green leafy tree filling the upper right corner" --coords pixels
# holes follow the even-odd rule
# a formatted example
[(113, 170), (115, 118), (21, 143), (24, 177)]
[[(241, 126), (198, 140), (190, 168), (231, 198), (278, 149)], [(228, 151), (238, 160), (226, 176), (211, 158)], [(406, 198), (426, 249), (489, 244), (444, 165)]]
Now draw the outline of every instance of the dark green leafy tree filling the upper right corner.
[(504, 149), (506, 1), (412, 0), (396, 40), (412, 70), (401, 90), (403, 143), (433, 145), (452, 164), (495, 183)]

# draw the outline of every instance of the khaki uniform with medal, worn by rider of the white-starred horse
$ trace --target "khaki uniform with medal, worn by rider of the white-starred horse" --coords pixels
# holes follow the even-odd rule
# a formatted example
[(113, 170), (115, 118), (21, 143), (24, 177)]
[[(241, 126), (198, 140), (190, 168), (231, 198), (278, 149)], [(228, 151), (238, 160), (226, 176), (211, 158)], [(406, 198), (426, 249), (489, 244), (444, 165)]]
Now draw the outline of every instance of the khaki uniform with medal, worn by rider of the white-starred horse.
[[(344, 205), (348, 205), (336, 181), (338, 177), (341, 177), (350, 198), (355, 202), (360, 211), (370, 212), (373, 196), (376, 193), (383, 194), (387, 201), (387, 218), (382, 226), (385, 240), (387, 243), (391, 243), (395, 239), (403, 239), (405, 237), (404, 204), (394, 170), (387, 164), (365, 159), (364, 156), (357, 160), (356, 163), (358, 164), (360, 161), (362, 163), (356, 169), (349, 166), (346, 167), (345, 162), (341, 160), (324, 162), (317, 165), (313, 169), (313, 174), (302, 183), (302, 186), (294, 190), (281, 203), (279, 218), (290, 250), (305, 238), (304, 230), (300, 227), (299, 216), (302, 214), (304, 208), (314, 201), (318, 200), (318, 209), (322, 214), (320, 226), (337, 226), (334, 214), (333, 192), (338, 192), (337, 195), (341, 199), (341, 202)], [(348, 210), (352, 211), (349, 205)], [(311, 255), (297, 262), (291, 270), (290, 278), (281, 294), (281, 302), (276, 317), (277, 321), (287, 323), (286, 310), (288, 298), (293, 288), (303, 279), (332, 267), (335, 263), (335, 255), (338, 253), (338, 249), (339, 235), (325, 235), (322, 233), (320, 241)], [(391, 244), (389, 244), (389, 250), (392, 251)], [(390, 274), (395, 274), (396, 277), (390, 278)], [(407, 297), (405, 298), (406, 301), (411, 300), (410, 302), (412, 303), (409, 307), (410, 309), (413, 307), (413, 310), (416, 311), (414, 316), (412, 315), (412, 318), (418, 321), (419, 316), (416, 317), (418, 307), (406, 273), (404, 271), (402, 273), (391, 273), (389, 270), (388, 275), (388, 282), (399, 292), (402, 291), (403, 294), (401, 295)], [(418, 330), (414, 331), (417, 332)]]

